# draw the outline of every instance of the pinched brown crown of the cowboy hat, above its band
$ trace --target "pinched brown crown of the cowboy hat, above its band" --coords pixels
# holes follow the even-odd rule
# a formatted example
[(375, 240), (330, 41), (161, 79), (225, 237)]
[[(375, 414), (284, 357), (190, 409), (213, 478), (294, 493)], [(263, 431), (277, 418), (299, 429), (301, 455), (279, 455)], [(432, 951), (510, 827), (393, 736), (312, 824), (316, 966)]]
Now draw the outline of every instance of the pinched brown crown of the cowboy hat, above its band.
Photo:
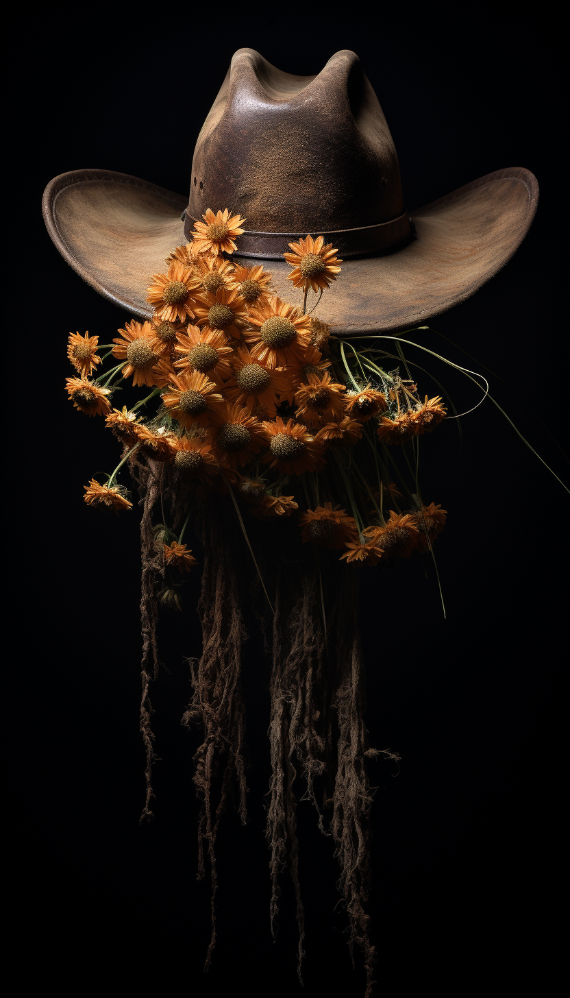
[(240, 49), (198, 138), (188, 212), (230, 208), (259, 233), (375, 226), (404, 211), (397, 156), (358, 57), (291, 76)]

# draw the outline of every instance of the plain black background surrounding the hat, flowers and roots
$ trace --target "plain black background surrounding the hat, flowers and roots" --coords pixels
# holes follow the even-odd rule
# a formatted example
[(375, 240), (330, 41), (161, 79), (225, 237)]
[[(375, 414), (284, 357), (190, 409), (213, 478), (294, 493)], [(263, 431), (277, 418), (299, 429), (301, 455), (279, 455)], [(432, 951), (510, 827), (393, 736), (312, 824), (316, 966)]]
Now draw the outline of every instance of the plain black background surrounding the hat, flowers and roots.
[[(248, 7), (229, 16), (212, 5), (183, 16), (165, 7), (143, 24), (133, 14), (135, 25), (101, 8), (83, 26), (68, 11), (65, 45), (54, 31), (38, 49), (26, 238), (44, 282), (42, 363), (53, 401), (49, 443), (37, 442), (34, 459), (40, 512), (38, 491), (33, 502), (28, 492), (48, 567), (41, 586), (36, 569), (27, 578), (22, 599), (39, 617), (28, 611), (19, 639), (29, 664), (25, 727), (40, 732), (23, 794), (33, 798), (25, 827), (38, 870), (23, 918), (42, 972), (62, 993), (299, 988), (286, 882), (275, 945), (270, 935), (269, 664), (253, 625), (245, 657), (251, 823), (242, 828), (231, 812), (220, 836), (218, 948), (211, 973), (202, 974), (209, 888), (195, 876), (191, 762), (199, 736), (180, 727), (190, 695), (183, 656), (200, 654), (198, 573), (184, 616), (167, 615), (162, 625), (171, 674), (153, 693), (162, 759), (156, 818), (138, 823), (138, 512), (109, 522), (84, 505), (84, 483), (112, 470), (117, 447), (58, 388), (68, 373), (68, 332), (89, 329), (110, 342), (128, 316), (52, 246), (38, 218), (45, 184), (67, 170), (104, 168), (184, 194), (198, 132), (234, 51), (256, 48), (281, 69), (309, 74), (338, 49), (353, 49), (391, 129), (409, 208), (504, 167), (524, 166), (538, 178), (541, 201), (520, 250), (473, 298), (433, 320), (458, 346), (434, 333), (422, 342), (475, 370), (491, 368), (491, 393), (565, 475), (560, 175), (540, 37), (497, 11), (451, 28), (415, 20), (411, 9), (393, 22), (369, 20), (361, 7), (329, 13), (305, 19), (284, 5), (277, 14)], [(460, 411), (478, 400), (468, 381), (432, 369)], [(449, 512), (436, 547), (447, 619), (425, 561), (370, 574), (362, 598), (370, 742), (402, 759), (399, 769), (377, 763), (372, 773), (378, 993), (511, 993), (523, 982), (547, 992), (557, 942), (565, 493), (489, 401), (462, 420), (462, 441), (451, 422), (427, 439), (422, 481), (426, 500)], [(299, 834), (304, 993), (360, 995), (361, 972), (350, 970), (344, 916), (335, 909), (330, 841), (318, 835), (308, 804), (300, 805)]]

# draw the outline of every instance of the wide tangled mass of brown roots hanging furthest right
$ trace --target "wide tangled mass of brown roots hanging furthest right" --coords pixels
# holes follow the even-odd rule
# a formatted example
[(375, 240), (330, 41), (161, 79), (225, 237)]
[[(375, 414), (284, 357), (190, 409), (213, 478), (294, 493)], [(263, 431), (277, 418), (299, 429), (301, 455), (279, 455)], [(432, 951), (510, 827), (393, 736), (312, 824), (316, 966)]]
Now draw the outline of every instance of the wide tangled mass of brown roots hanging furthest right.
[[(298, 548), (298, 546), (297, 546)], [(364, 676), (357, 629), (357, 574), (327, 567), (304, 551), (278, 575), (271, 679), (271, 802), (267, 837), (271, 849), (271, 918), (276, 931), (280, 876), (290, 874), (298, 925), (297, 972), (304, 955), (304, 910), (298, 877), (295, 779), (310, 800), (318, 827), (331, 835), (340, 866), (338, 888), (348, 917), (348, 946), (363, 955), (366, 998), (372, 992), (376, 958), (364, 905), (370, 879), (369, 812), (373, 791), (366, 759), (370, 749), (363, 722)], [(323, 594), (324, 584), (324, 596)], [(326, 622), (324, 620), (326, 613)], [(391, 753), (385, 753), (396, 757)], [(323, 777), (321, 779), (321, 777)], [(322, 809), (316, 784), (322, 783)], [(327, 823), (323, 810), (332, 807)]]

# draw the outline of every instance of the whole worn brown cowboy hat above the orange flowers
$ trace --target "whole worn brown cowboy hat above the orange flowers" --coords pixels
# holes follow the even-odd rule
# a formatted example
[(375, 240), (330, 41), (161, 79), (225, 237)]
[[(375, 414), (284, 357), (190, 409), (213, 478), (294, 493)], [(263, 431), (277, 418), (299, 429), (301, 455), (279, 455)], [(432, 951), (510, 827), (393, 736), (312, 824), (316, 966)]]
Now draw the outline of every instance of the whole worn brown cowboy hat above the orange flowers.
[(536, 179), (517, 167), (408, 211), (392, 137), (353, 52), (301, 77), (240, 49), (198, 138), (190, 199), (75, 170), (48, 184), (43, 213), (74, 269), (145, 317), (151, 275), (208, 208), (246, 218), (233, 259), (271, 261), (274, 286), (293, 304), (301, 292), (282, 253), (322, 235), (344, 262), (319, 318), (359, 335), (415, 325), (469, 297), (517, 250), (537, 201)]

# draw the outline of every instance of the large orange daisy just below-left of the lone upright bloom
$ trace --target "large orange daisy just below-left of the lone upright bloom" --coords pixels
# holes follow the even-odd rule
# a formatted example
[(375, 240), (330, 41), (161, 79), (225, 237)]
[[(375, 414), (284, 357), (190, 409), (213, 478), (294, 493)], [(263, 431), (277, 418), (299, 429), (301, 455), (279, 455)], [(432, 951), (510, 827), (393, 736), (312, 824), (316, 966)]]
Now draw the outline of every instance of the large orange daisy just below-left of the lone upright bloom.
[(247, 329), (244, 339), (253, 344), (256, 360), (264, 360), (268, 367), (286, 367), (308, 346), (310, 317), (301, 315), (277, 294), (269, 302), (258, 302), (258, 307), (250, 311), (249, 321), (256, 328)]

